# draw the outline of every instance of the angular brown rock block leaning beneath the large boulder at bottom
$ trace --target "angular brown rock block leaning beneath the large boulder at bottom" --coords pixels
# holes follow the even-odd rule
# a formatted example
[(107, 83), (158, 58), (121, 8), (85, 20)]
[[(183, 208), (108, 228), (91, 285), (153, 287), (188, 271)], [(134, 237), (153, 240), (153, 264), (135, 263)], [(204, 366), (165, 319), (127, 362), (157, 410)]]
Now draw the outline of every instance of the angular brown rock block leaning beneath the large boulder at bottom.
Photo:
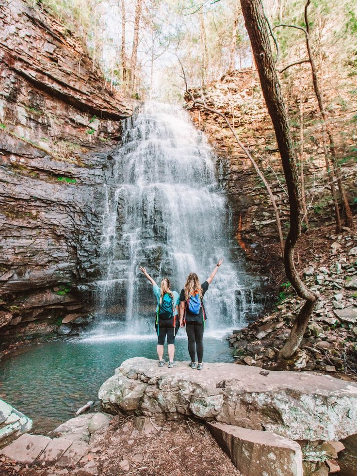
[(208, 423), (212, 436), (244, 476), (303, 476), (299, 443), (269, 431)]

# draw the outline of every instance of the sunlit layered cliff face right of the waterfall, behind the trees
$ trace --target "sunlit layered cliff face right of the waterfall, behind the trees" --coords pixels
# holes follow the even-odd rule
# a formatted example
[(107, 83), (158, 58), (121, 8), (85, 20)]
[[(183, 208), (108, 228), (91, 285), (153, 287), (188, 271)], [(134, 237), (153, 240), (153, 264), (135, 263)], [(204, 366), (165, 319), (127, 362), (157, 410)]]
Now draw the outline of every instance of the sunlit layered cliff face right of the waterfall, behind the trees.
[[(296, 79), (296, 82), (298, 81), (300, 78)], [(330, 191), (326, 185), (320, 113), (312, 88), (309, 88), (311, 77), (308, 68), (302, 71), (301, 81), (305, 88), (302, 101), (305, 138), (303, 160), (308, 192), (306, 201), (309, 206), (308, 217), (313, 228), (331, 223), (334, 213)], [(356, 133), (354, 119), (356, 99), (350, 94), (351, 91), (346, 84), (340, 88), (340, 96), (336, 93), (335, 83), (326, 85), (324, 93), (325, 104), (331, 117), (339, 164), (342, 166), (343, 181), (352, 203), (357, 193), (356, 149), (353, 139)], [(282, 85), (285, 90), (292, 138), (296, 141), (297, 162), (300, 168), (299, 85), (295, 84), (291, 77), (283, 77)], [(351, 90), (352, 88), (351, 83)], [(203, 89), (193, 88), (191, 92), (195, 98), (203, 97), (207, 106), (226, 115), (244, 146), (259, 164), (276, 197), (285, 236), (289, 226), (288, 197), (284, 188), (285, 180), (274, 128), (262, 97), (258, 73), (252, 70), (227, 73), (220, 81)], [(210, 137), (212, 146), (220, 159), (221, 182), (233, 207), (236, 239), (243, 249), (250, 251), (248, 255), (251, 258), (261, 261), (264, 254), (262, 247), (271, 246), (278, 239), (273, 207), (264, 184), (236, 143), (224, 119), (211, 112), (192, 108), (190, 105), (192, 101), (188, 94), (185, 99), (195, 124)], [(253, 248), (250, 247), (252, 244)], [(263, 246), (257, 248), (257, 245)], [(278, 249), (277, 254), (279, 254)]]

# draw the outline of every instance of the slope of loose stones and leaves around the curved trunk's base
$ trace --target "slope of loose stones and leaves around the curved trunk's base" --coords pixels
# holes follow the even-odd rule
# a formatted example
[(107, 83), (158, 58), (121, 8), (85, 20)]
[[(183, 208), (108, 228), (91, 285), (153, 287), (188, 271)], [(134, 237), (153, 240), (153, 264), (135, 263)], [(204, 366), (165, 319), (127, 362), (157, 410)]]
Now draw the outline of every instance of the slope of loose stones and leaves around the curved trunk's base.
[(357, 378), (357, 232), (345, 228), (336, 234), (333, 225), (308, 231), (301, 236), (295, 257), (300, 276), (318, 295), (300, 349), (288, 362), (277, 359), (302, 300), (286, 279), (276, 244), (262, 256), (275, 283), (276, 303), (230, 336), (236, 360), (271, 370), (319, 370)]

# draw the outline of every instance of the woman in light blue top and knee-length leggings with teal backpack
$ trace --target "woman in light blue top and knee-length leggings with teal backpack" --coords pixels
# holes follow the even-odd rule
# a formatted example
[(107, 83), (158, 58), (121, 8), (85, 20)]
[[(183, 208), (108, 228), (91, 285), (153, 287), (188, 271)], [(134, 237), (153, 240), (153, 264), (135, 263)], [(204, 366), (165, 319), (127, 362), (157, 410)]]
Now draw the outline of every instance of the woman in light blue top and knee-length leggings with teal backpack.
[(157, 353), (159, 357), (159, 367), (165, 365), (163, 359), (163, 345), (167, 336), (167, 352), (169, 354), (168, 368), (174, 367), (175, 356), (175, 336), (179, 329), (179, 293), (171, 291), (170, 280), (163, 278), (159, 286), (154, 279), (146, 272), (146, 268), (140, 266), (140, 271), (144, 273), (146, 279), (152, 284), (152, 290), (157, 300), (155, 329), (158, 335)]

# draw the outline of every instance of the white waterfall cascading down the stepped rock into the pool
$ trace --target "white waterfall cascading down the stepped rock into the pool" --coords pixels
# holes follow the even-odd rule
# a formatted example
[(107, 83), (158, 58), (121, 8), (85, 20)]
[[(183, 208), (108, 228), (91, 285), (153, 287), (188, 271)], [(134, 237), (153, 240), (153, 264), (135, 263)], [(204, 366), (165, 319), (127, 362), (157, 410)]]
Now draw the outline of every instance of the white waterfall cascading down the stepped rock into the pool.
[[(122, 332), (145, 333), (154, 319), (151, 285), (167, 276), (180, 292), (189, 272), (205, 281), (224, 259), (206, 296), (211, 329), (242, 326), (257, 312), (260, 280), (244, 269), (231, 239), (230, 210), (216, 179), (216, 157), (179, 107), (147, 103), (124, 128), (105, 186), (98, 314)], [(218, 170), (217, 170), (218, 171)], [(124, 324), (123, 324), (124, 323)]]

